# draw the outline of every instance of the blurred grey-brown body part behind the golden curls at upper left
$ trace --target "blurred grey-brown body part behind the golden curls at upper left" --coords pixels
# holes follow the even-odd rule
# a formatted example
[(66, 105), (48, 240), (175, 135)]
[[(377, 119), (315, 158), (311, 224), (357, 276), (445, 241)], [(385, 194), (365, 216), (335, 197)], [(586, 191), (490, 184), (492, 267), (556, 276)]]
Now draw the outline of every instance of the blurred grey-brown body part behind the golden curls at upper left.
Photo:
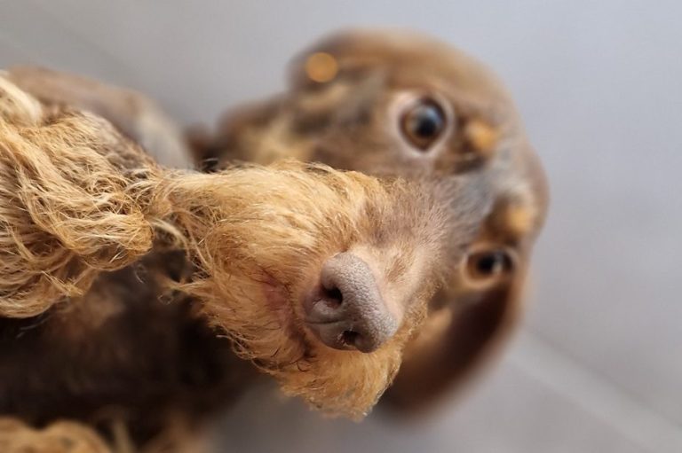
[(45, 105), (67, 105), (101, 116), (165, 166), (191, 167), (181, 129), (138, 91), (39, 66), (12, 66), (7, 78)]

